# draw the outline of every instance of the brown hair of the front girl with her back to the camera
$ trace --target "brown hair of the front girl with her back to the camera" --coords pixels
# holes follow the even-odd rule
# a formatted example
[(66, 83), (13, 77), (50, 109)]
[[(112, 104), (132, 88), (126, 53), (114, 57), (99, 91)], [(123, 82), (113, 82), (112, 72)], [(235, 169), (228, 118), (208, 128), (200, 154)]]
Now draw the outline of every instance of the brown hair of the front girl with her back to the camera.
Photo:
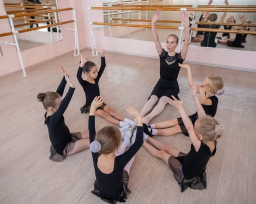
[(101, 143), (100, 154), (109, 154), (115, 151), (121, 143), (121, 133), (116, 126), (105, 126), (96, 134), (96, 140)]

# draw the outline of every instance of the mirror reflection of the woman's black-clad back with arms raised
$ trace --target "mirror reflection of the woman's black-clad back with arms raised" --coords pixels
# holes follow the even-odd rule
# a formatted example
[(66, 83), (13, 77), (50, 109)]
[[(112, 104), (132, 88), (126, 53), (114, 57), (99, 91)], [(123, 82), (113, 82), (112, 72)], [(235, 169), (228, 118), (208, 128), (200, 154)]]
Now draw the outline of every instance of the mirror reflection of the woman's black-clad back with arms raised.
[[(209, 0), (208, 5), (211, 5), (213, 2), (213, 0)], [(229, 5), (229, 2), (227, 0), (224, 1), (224, 3), (226, 5)], [(210, 13), (206, 12), (205, 14), (205, 20), (209, 20), (209, 22), (216, 22), (217, 20), (217, 14), (216, 13)], [(209, 19), (208, 19), (209, 16)], [(223, 15), (220, 17), (220, 22), (224, 22), (224, 19), (226, 17), (226, 12), (223, 13)], [(216, 25), (216, 24), (206, 24), (203, 26), (206, 29), (219, 29), (220, 25)], [(203, 37), (203, 41), (201, 42), (201, 46), (202, 47), (216, 47), (217, 44), (215, 42), (215, 37), (216, 37), (217, 33), (216, 32), (209, 32), (209, 31), (205, 31), (204, 33), (204, 37)]]

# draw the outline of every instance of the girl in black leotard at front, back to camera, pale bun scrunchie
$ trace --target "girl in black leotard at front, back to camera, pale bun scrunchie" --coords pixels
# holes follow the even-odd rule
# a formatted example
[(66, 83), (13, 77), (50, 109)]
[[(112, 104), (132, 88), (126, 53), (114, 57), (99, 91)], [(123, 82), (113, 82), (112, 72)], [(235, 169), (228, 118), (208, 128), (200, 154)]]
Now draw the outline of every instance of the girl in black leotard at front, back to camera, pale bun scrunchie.
[[(96, 133), (95, 112), (101, 107), (103, 101), (95, 97), (91, 103), (89, 113), (89, 139), (96, 180), (92, 194), (99, 196), (108, 203), (125, 202), (130, 194), (127, 188), (130, 167), (134, 156), (143, 144), (143, 127), (140, 113), (133, 107), (126, 107), (126, 111), (132, 115), (137, 122), (136, 139), (130, 148), (121, 154), (117, 150), (123, 149), (121, 144), (121, 133), (116, 126), (105, 126)], [(96, 136), (95, 136), (96, 134)]]

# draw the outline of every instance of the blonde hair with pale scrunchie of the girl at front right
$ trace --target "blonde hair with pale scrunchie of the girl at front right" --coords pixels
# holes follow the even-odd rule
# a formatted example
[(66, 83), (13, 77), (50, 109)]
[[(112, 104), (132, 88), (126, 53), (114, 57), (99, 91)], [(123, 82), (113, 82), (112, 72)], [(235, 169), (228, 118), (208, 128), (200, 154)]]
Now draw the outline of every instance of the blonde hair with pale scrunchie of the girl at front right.
[(203, 143), (206, 141), (215, 142), (223, 135), (224, 125), (219, 124), (215, 118), (206, 115), (196, 120), (195, 131), (197, 135), (203, 137)]

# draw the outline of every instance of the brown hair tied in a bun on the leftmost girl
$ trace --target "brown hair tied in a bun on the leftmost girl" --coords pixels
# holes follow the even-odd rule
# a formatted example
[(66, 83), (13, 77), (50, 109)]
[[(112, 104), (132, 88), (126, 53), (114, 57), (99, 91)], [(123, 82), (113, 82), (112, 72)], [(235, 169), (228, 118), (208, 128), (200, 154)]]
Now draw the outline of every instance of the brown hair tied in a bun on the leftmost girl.
[(57, 92), (46, 92), (37, 94), (37, 101), (43, 103), (44, 108), (47, 110), (49, 107), (56, 107), (57, 99), (61, 97)]

